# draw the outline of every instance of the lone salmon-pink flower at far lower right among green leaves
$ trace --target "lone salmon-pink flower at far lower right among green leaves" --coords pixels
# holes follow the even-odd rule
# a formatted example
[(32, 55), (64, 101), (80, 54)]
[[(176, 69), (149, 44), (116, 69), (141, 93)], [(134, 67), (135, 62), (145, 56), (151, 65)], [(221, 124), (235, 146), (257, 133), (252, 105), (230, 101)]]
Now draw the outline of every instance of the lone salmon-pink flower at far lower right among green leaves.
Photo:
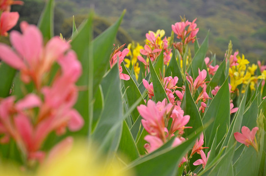
[(250, 130), (246, 126), (243, 126), (241, 129), (242, 133), (235, 132), (234, 136), (238, 142), (246, 145), (247, 147), (249, 147), (249, 145), (251, 145), (258, 152), (258, 144), (257, 144), (256, 137), (255, 137), (256, 132), (258, 130), (259, 130), (258, 127), (254, 127), (252, 129), (252, 131), (250, 132)]

